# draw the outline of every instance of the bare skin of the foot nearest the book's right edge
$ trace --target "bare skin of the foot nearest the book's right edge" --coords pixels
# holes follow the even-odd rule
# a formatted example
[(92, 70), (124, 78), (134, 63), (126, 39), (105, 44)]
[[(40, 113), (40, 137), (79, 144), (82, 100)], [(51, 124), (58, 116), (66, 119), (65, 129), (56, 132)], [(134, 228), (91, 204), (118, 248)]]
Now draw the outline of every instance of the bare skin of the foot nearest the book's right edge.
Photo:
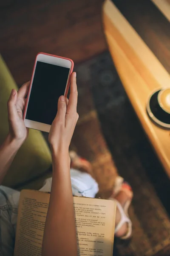
[[(111, 196), (111, 198), (116, 199), (122, 206), (122, 208), (124, 209), (125, 204), (127, 203), (127, 201), (131, 201), (133, 197), (133, 193), (131, 190), (131, 187), (127, 184), (127, 183), (123, 183), (122, 184), (122, 189), (116, 194), (116, 196), (114, 195), (114, 192)], [(119, 207), (116, 208), (116, 220), (115, 220), (115, 226), (117, 226), (117, 224), (119, 224), (119, 222), (121, 221), (121, 213), (119, 211)], [(128, 232), (128, 223), (125, 222), (122, 227), (116, 232), (116, 236), (121, 238), (123, 236), (126, 236)]]

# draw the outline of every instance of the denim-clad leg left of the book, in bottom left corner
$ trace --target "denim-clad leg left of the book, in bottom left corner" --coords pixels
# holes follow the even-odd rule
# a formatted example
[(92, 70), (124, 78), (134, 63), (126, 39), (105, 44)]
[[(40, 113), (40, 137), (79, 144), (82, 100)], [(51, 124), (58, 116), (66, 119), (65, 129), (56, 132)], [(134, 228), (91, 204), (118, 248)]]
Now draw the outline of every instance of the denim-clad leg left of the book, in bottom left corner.
[(14, 255), (20, 192), (0, 186), (0, 256)]

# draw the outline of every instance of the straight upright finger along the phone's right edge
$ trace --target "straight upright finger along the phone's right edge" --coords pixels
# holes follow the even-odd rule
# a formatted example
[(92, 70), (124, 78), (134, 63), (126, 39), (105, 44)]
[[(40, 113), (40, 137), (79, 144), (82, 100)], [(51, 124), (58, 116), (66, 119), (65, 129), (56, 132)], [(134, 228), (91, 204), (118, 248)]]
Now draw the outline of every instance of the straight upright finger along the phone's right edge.
[(67, 113), (72, 114), (77, 111), (77, 84), (76, 84), (76, 72), (71, 75), (70, 82), (70, 96), (68, 101)]

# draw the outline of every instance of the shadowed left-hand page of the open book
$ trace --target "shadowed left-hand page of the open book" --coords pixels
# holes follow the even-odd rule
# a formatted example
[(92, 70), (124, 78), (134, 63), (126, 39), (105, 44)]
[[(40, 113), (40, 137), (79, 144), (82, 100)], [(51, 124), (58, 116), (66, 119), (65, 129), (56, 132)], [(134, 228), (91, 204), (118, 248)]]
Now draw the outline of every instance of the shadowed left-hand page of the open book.
[(21, 191), (14, 256), (41, 256), (49, 199), (49, 193)]

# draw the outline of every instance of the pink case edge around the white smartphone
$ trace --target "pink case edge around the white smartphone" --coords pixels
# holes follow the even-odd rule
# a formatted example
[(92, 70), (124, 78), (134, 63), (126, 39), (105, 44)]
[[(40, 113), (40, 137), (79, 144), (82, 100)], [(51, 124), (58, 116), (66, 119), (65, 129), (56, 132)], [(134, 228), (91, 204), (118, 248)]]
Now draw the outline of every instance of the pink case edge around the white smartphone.
[[(38, 56), (39, 54), (50, 55), (50, 56), (54, 56), (54, 57), (57, 57), (57, 58), (62, 58), (62, 59), (71, 61), (71, 64), (72, 64), (72, 65), (71, 65), (71, 70), (70, 70), (70, 76), (69, 76), (69, 78), (68, 78), (68, 83), (66, 84), (66, 90), (65, 90), (65, 95), (64, 95), (65, 97), (67, 97), (68, 89), (69, 89), (69, 85), (70, 85), (70, 78), (71, 78), (71, 74), (73, 73), (74, 62), (73, 62), (70, 58), (65, 58), (65, 57), (61, 57), (61, 56), (54, 55), (54, 54), (49, 54), (49, 53), (45, 53), (45, 52), (39, 52), (39, 53), (37, 54), (37, 56)], [(37, 62), (37, 56), (36, 56), (36, 59), (35, 59), (34, 68), (35, 68), (35, 64), (36, 64), (36, 62)], [(31, 85), (32, 79), (33, 79), (34, 68), (33, 68), (33, 70), (32, 70), (32, 76), (31, 76), (30, 85)], [(26, 106), (25, 106), (25, 109), (24, 109), (23, 119), (25, 119), (25, 117), (26, 117), (26, 109), (27, 109), (27, 105), (28, 105), (28, 98), (29, 98), (30, 92), (31, 92), (31, 86), (29, 87), (29, 90), (28, 90), (28, 96), (27, 96)]]

